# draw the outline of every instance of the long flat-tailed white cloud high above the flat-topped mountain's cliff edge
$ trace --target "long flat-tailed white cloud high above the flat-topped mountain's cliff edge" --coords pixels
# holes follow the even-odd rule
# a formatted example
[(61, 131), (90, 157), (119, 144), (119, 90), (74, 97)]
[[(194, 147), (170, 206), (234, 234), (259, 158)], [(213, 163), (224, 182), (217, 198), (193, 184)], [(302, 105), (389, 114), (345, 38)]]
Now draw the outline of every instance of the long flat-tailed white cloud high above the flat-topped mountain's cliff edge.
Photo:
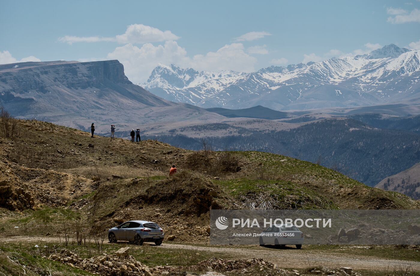
[(160, 29), (146, 26), (143, 24), (133, 24), (127, 26), (124, 34), (118, 34), (115, 37), (102, 37), (102, 36), (63, 36), (59, 37), (59, 42), (73, 44), (75, 42), (102, 42), (111, 41), (118, 42), (121, 44), (126, 43), (151, 43), (151, 42), (163, 42), (169, 40), (179, 39), (171, 31), (161, 31)]

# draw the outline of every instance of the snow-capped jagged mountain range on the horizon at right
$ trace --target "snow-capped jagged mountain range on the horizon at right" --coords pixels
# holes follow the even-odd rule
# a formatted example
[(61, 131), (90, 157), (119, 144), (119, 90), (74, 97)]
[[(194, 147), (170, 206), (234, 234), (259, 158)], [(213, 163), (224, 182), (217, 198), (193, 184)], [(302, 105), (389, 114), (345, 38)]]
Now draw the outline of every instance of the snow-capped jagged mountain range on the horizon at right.
[(276, 110), (420, 103), (420, 51), (394, 44), (359, 57), (270, 66), (253, 73), (158, 65), (139, 84), (165, 99), (231, 109)]

